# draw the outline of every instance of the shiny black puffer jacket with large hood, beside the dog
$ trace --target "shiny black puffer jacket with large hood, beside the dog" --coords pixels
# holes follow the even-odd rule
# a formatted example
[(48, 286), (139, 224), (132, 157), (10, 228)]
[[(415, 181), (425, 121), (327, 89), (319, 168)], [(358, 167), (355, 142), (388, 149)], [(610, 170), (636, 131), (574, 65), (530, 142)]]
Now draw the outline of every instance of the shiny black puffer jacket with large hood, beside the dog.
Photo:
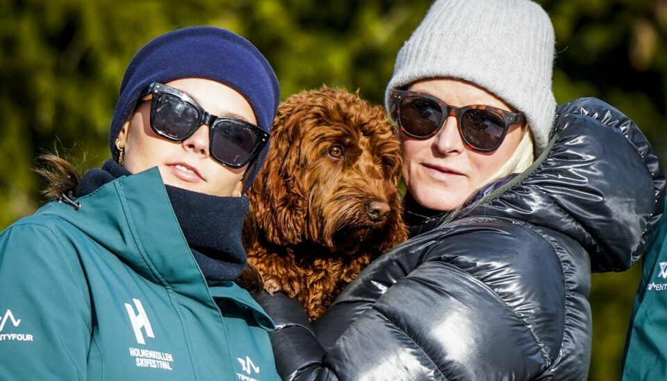
[(557, 111), (535, 165), (376, 259), (313, 325), (259, 298), (290, 380), (585, 380), (591, 270), (639, 259), (664, 176), (636, 125), (598, 99)]

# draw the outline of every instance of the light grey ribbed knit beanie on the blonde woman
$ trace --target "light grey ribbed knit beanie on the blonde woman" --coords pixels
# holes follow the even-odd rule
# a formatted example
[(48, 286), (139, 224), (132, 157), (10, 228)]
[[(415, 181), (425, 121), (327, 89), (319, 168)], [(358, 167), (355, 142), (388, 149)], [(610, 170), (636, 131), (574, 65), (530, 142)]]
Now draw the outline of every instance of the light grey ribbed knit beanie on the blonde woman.
[(554, 29), (529, 0), (438, 0), (399, 51), (385, 103), (393, 89), (420, 79), (463, 79), (525, 113), (536, 153), (549, 140)]

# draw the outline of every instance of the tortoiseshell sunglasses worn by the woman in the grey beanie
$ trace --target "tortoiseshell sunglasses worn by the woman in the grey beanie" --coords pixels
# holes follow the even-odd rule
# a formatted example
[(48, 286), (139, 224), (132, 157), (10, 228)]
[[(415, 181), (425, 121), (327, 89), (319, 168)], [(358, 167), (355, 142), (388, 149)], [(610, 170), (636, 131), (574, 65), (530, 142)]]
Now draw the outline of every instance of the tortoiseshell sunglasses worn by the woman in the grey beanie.
[(393, 90), (391, 98), (392, 117), (407, 136), (421, 140), (431, 138), (440, 131), (447, 117), (453, 116), (458, 121), (463, 143), (478, 152), (495, 151), (512, 124), (525, 122), (523, 113), (479, 104), (450, 106), (422, 92)]

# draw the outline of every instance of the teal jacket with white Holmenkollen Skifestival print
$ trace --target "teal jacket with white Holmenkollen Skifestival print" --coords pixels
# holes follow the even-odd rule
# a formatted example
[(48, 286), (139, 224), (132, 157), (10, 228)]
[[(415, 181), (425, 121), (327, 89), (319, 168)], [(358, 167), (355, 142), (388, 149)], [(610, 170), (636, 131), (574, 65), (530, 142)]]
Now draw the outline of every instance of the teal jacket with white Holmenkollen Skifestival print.
[(207, 286), (156, 168), (0, 234), (0, 380), (278, 380), (274, 325)]

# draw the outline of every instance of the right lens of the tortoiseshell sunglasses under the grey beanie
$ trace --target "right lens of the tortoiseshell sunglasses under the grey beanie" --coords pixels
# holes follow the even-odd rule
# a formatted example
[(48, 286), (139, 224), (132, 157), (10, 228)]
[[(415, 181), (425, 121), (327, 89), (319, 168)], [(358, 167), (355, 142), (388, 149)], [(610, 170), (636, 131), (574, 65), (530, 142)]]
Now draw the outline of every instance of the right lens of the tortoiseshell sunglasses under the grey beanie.
[(493, 150), (504, 135), (502, 116), (480, 108), (472, 108), (461, 116), (461, 135), (466, 143), (477, 149)]

